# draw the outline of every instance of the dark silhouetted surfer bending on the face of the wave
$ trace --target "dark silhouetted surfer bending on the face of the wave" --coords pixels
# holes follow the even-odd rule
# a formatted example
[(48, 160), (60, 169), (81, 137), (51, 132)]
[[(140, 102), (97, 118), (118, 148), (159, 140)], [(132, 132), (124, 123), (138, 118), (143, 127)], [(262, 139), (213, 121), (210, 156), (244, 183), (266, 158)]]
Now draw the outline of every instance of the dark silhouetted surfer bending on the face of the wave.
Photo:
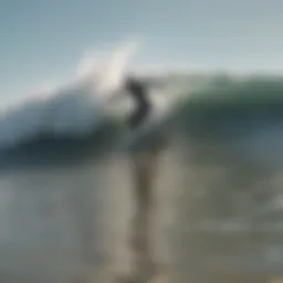
[(129, 128), (134, 130), (143, 124), (149, 114), (150, 103), (147, 99), (147, 91), (143, 83), (134, 78), (128, 78), (126, 88), (136, 102), (136, 111), (134, 111), (128, 120)]

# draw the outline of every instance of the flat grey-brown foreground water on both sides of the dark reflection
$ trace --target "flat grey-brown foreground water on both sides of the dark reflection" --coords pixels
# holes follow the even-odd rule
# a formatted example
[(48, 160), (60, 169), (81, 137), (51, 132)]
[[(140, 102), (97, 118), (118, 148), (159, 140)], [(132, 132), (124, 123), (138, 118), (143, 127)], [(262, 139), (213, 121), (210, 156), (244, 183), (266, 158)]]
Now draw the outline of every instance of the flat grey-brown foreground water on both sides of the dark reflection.
[[(125, 154), (109, 153), (1, 174), (0, 282), (108, 282), (129, 269), (129, 168)], [(153, 250), (170, 282), (281, 275), (281, 169), (241, 163), (229, 145), (185, 137), (163, 153)]]

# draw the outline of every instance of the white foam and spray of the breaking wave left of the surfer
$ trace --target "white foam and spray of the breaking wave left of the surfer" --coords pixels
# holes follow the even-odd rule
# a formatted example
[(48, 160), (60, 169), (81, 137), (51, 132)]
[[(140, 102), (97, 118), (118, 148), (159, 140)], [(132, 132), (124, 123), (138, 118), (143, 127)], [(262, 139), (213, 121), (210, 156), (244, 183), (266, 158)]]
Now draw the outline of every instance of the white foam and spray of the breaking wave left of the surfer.
[(104, 104), (120, 87), (133, 44), (103, 60), (86, 54), (77, 75), (63, 87), (42, 90), (0, 109), (0, 148), (17, 146), (41, 135), (85, 136), (105, 119)]

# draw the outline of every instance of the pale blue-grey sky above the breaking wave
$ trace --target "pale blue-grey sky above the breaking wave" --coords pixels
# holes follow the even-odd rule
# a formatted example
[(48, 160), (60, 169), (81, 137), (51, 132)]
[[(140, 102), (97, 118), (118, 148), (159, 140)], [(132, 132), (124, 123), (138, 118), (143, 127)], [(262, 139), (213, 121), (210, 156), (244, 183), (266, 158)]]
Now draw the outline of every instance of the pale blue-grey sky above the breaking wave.
[(83, 54), (142, 42), (136, 64), (283, 70), (282, 0), (0, 0), (0, 97), (72, 77)]

